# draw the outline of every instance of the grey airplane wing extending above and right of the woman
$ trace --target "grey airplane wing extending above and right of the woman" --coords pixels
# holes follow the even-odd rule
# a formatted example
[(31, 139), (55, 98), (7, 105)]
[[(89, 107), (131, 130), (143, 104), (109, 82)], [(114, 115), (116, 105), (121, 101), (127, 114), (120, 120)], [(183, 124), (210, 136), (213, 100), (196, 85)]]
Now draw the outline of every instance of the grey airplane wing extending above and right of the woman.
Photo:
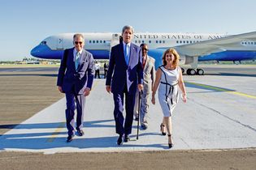
[[(246, 42), (242, 44), (242, 42)], [(256, 50), (256, 32), (248, 32), (235, 36), (225, 36), (214, 40), (175, 46), (175, 49), (185, 56), (205, 56), (210, 53), (219, 53), (227, 50)], [(249, 43), (249, 44), (248, 44)]]

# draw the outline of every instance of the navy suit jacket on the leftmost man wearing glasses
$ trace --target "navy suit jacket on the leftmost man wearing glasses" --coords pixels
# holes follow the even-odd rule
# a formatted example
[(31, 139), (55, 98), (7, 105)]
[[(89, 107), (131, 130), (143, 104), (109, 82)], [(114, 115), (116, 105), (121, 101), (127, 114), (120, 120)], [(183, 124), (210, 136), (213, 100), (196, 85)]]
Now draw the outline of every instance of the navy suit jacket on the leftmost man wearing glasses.
[(83, 49), (80, 62), (76, 70), (74, 48), (65, 49), (59, 67), (57, 86), (64, 92), (74, 91), (78, 95), (83, 94), (85, 87), (92, 89), (93, 85), (93, 54)]

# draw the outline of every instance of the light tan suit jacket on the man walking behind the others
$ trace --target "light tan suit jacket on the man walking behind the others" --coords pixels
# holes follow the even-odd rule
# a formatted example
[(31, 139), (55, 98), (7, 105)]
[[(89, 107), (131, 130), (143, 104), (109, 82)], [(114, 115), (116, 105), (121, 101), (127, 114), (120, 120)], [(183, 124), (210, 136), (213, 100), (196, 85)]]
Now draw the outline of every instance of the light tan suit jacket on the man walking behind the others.
[(154, 69), (154, 58), (147, 56), (145, 61), (145, 66), (143, 69), (143, 79), (144, 79), (144, 91), (148, 93), (151, 91), (155, 79), (155, 69)]

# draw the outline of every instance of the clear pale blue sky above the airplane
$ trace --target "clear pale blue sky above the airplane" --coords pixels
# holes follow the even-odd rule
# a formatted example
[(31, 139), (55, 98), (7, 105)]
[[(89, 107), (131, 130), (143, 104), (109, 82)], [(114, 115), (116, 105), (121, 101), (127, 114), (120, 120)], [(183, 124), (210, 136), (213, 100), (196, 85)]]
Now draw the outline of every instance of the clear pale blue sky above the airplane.
[(32, 57), (47, 36), (67, 32), (256, 31), (255, 0), (0, 0), (0, 61)]

